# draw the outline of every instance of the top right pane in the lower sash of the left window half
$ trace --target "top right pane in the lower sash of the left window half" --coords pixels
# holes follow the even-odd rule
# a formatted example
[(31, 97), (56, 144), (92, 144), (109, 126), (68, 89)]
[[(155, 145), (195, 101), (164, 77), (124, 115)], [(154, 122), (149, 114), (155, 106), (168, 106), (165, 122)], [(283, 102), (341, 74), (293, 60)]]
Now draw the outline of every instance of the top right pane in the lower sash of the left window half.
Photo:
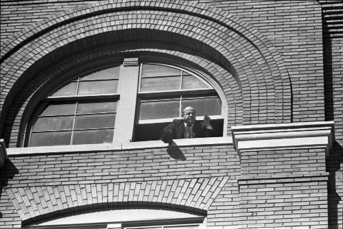
[(115, 112), (117, 110), (117, 101), (104, 101), (99, 103), (79, 103), (78, 114)]

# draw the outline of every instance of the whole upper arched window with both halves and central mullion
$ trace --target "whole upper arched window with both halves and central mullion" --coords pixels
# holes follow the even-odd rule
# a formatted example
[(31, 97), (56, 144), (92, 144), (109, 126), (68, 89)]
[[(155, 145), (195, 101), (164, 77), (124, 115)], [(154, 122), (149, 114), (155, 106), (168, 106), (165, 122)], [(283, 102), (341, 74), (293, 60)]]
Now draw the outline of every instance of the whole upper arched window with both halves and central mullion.
[(43, 99), (25, 145), (77, 145), (157, 140), (186, 106), (207, 114), (222, 136), (222, 102), (199, 71), (156, 62), (122, 64), (81, 75)]

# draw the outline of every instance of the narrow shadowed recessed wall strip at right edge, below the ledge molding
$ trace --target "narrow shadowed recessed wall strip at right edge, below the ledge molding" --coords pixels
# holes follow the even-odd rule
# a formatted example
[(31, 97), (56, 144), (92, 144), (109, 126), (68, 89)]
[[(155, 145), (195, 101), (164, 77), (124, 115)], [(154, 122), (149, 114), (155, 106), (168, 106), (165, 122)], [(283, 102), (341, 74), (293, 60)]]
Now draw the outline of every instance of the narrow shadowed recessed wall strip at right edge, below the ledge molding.
[[(333, 148), (330, 151), (329, 158), (327, 158), (327, 171), (329, 171), (328, 182), (328, 211), (329, 211), (329, 229), (338, 229), (342, 222), (340, 218), (340, 204), (342, 203), (342, 191), (337, 190), (343, 182), (343, 171), (340, 167), (343, 163), (343, 147), (335, 141)], [(341, 203), (340, 203), (341, 202)]]

